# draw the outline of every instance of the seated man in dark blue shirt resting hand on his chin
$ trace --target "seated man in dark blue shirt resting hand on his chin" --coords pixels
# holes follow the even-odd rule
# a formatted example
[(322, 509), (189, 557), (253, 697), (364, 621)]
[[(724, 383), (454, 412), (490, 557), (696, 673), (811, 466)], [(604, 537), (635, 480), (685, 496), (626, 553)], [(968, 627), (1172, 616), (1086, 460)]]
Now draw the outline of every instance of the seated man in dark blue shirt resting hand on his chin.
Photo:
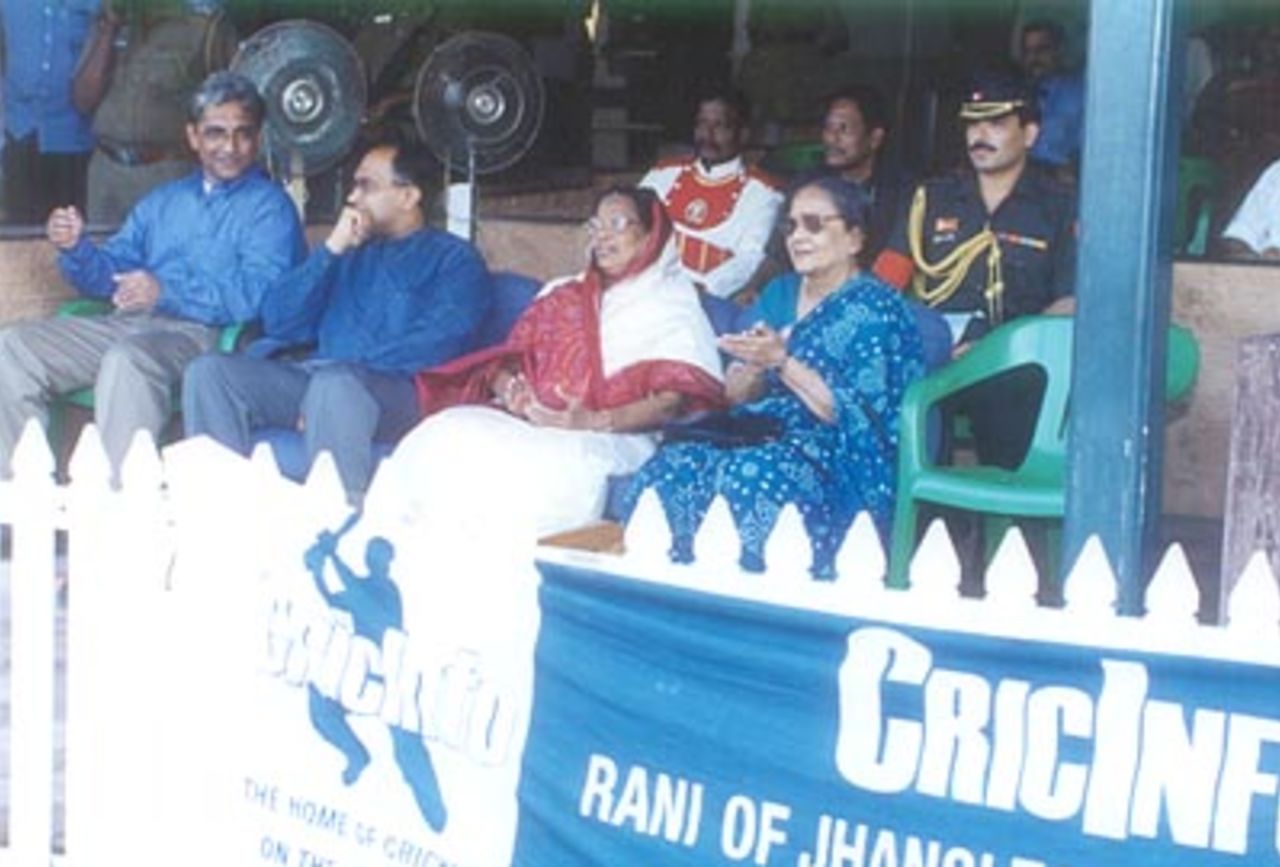
[(329, 451), (353, 498), (375, 442), (420, 417), (412, 374), (474, 348), (492, 288), (471, 245), (426, 225), (433, 173), (417, 146), (374, 145), (329, 238), (262, 301), (278, 344), (315, 343), (302, 361), (206, 355), (187, 369), (187, 435), (247, 455), (256, 428), (301, 428), (307, 458)]

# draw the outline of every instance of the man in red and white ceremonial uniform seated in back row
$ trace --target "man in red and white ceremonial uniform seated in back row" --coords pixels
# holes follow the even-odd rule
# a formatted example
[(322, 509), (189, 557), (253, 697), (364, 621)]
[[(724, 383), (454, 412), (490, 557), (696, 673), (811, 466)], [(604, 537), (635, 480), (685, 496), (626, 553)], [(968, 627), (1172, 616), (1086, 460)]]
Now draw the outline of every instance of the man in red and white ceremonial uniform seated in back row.
[(694, 156), (662, 160), (640, 181), (667, 206), (685, 273), (721, 298), (764, 261), (782, 204), (777, 182), (742, 160), (749, 118), (741, 93), (709, 93), (698, 104)]

